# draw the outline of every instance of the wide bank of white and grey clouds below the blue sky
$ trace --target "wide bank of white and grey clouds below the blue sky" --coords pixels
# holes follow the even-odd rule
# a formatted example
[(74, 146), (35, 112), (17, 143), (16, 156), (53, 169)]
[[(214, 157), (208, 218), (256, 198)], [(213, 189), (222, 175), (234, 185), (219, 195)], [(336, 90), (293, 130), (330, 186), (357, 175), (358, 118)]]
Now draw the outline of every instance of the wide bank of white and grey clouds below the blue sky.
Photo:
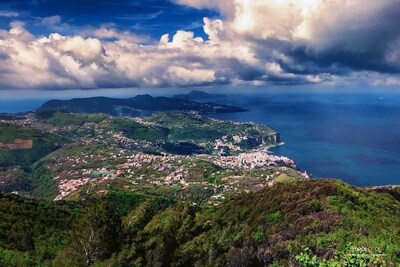
[[(149, 40), (112, 25), (80, 35), (0, 30), (0, 88), (94, 89), (219, 84), (398, 85), (400, 0), (176, 0), (213, 9), (206, 40)], [(0, 13), (1, 14), (1, 13)], [(43, 25), (64, 25), (59, 16)]]

